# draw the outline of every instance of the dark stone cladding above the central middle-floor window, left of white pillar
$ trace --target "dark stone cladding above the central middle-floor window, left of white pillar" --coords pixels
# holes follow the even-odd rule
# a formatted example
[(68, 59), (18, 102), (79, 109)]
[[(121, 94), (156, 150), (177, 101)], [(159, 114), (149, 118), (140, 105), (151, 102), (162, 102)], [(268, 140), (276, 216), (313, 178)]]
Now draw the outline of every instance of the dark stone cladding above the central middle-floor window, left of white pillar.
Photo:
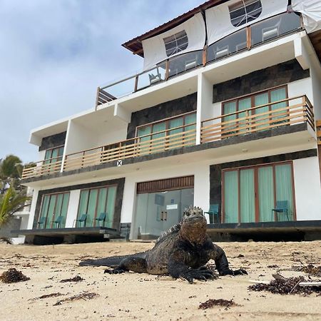
[(153, 121), (161, 121), (164, 118), (178, 116), (181, 113), (196, 111), (197, 93), (191, 93), (188, 96), (166, 101), (156, 106), (136, 111), (131, 114), (131, 123), (127, 128), (127, 139), (135, 137), (136, 127)]

